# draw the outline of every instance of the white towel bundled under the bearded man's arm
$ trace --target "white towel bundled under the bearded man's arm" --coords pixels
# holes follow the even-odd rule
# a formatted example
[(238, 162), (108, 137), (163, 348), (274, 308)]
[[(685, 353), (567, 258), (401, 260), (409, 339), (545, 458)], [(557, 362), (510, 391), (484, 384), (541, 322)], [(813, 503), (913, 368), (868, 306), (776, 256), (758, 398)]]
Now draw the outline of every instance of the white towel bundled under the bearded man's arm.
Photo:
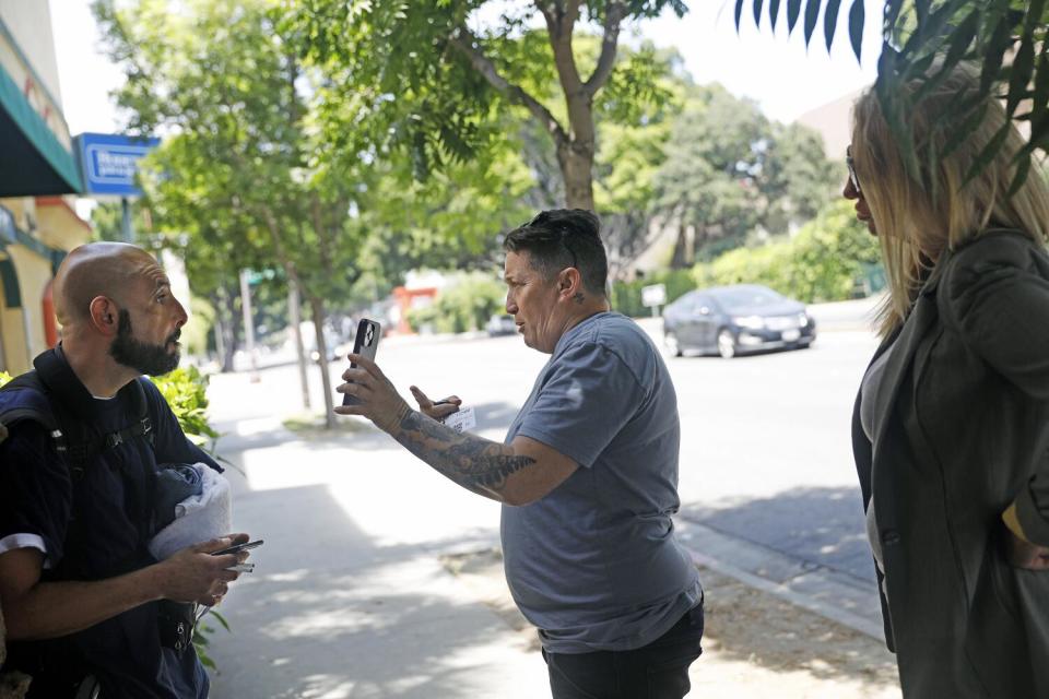
[(175, 521), (150, 541), (150, 553), (164, 560), (187, 546), (228, 534), (233, 528), (229, 482), (203, 463), (192, 464), (200, 472), (203, 489), (175, 506)]

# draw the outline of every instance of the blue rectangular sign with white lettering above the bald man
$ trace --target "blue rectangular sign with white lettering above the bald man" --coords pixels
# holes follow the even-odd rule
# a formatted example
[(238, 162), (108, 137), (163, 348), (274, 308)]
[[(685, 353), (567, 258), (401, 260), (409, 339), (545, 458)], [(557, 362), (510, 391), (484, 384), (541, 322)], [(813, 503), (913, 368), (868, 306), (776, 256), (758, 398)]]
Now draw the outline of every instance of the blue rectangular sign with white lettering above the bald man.
[(140, 197), (134, 185), (139, 161), (160, 145), (160, 139), (137, 139), (109, 133), (81, 133), (76, 157), (84, 176), (84, 193)]

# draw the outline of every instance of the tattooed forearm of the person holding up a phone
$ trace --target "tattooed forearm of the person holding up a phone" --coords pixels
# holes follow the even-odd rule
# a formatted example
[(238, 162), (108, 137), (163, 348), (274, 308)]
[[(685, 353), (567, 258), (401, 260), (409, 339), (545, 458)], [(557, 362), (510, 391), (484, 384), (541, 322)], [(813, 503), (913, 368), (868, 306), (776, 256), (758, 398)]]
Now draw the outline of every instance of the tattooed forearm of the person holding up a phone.
[(390, 435), (437, 472), (468, 490), (503, 500), (507, 478), (535, 463), (509, 447), (473, 435), (459, 434), (422, 413), (402, 414)]

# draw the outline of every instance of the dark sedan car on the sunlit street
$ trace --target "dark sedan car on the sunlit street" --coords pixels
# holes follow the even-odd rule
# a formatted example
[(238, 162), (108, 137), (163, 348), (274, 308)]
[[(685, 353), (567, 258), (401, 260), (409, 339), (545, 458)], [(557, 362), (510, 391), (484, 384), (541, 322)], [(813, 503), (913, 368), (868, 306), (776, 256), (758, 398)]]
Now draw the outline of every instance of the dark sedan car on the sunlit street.
[(808, 347), (816, 324), (801, 301), (756, 284), (688, 292), (663, 310), (663, 342), (674, 356)]

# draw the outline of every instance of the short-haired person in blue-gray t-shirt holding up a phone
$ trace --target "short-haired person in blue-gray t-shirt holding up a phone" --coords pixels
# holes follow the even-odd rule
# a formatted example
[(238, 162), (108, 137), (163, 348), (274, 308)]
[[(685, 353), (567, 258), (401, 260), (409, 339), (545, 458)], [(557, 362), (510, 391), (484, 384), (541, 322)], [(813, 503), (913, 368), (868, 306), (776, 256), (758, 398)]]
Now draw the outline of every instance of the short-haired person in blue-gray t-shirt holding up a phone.
[(673, 533), (677, 401), (651, 340), (609, 311), (597, 216), (543, 212), (510, 232), (506, 310), (551, 359), (503, 445), (413, 411), (357, 355), (339, 391), (457, 484), (503, 502), (506, 578), (540, 630), (555, 699), (679, 699), (700, 653), (703, 593)]

